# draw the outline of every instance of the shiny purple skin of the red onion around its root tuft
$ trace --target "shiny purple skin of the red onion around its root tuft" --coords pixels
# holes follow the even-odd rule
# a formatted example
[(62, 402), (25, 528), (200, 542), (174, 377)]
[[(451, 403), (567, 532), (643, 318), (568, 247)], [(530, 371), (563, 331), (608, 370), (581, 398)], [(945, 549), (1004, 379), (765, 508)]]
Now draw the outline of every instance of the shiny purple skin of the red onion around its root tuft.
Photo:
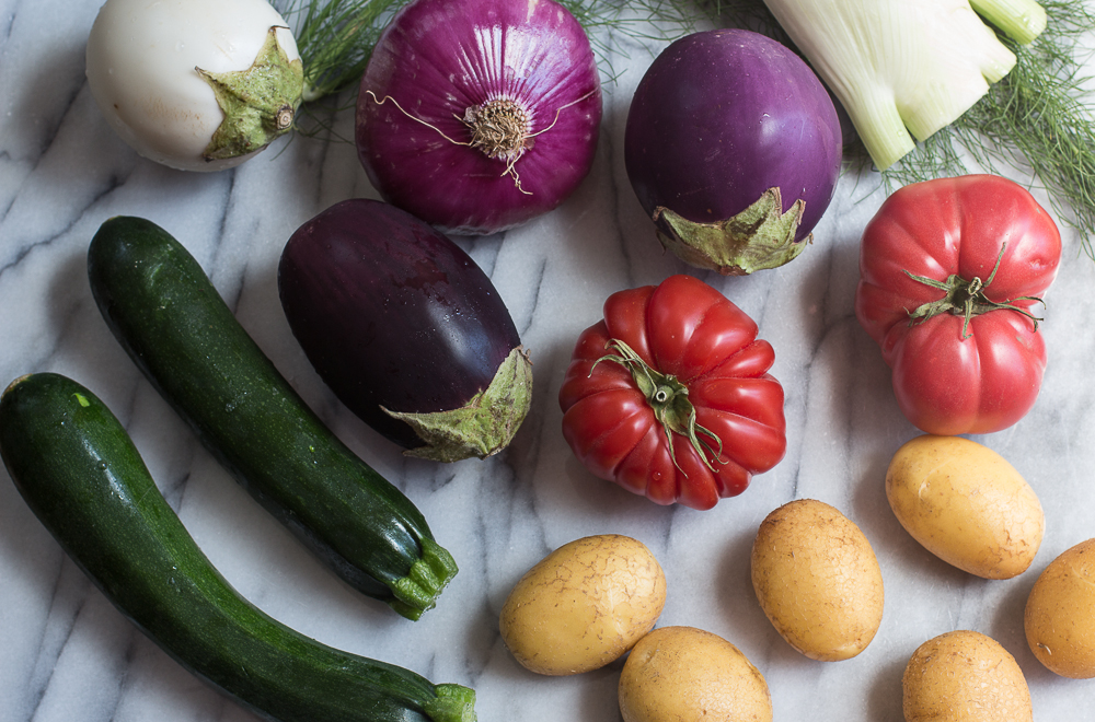
[[(495, 98), (530, 116), (534, 137), (512, 173), (507, 160), (469, 147), (461, 121)], [(385, 200), (443, 232), (487, 234), (556, 208), (577, 188), (600, 120), (589, 39), (554, 0), (416, 0), (372, 51), (356, 140)]]

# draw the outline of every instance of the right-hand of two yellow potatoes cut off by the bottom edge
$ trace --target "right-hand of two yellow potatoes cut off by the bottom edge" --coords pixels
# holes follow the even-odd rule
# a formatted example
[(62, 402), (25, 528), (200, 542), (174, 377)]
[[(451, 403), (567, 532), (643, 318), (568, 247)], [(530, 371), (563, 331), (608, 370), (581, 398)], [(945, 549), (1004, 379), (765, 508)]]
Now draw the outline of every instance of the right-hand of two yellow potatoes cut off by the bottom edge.
[(906, 722), (1031, 722), (1030, 690), (1007, 650), (976, 631), (920, 645), (901, 679)]

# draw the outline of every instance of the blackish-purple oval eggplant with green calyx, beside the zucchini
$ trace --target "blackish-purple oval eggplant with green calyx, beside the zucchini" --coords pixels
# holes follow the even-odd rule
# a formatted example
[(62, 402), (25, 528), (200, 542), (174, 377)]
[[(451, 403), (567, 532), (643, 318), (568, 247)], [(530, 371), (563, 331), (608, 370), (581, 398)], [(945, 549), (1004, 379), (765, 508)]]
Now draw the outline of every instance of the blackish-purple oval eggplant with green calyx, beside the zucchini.
[(491, 279), (394, 206), (346, 200), (301, 225), (278, 293), (324, 383), (410, 455), (485, 458), (528, 412), (531, 362)]

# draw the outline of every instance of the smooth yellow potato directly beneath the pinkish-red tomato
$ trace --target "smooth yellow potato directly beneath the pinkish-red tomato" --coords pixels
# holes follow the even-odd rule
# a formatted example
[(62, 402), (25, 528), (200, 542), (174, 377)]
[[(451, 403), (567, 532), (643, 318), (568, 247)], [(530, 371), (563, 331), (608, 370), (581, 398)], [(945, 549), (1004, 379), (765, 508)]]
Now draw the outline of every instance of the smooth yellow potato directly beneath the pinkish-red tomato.
[(960, 436), (918, 436), (894, 455), (886, 497), (901, 526), (949, 564), (1011, 579), (1038, 554), (1046, 526), (1030, 485), (1000, 454)]

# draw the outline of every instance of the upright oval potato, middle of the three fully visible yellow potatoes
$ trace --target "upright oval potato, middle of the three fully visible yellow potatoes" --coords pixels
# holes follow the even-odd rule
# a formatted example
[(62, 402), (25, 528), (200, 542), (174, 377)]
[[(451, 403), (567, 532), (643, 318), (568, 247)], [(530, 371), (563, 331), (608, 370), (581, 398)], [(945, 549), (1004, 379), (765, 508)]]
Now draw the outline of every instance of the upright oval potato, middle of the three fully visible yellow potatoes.
[(871, 543), (837, 509), (792, 501), (761, 523), (753, 590), (772, 626), (812, 660), (855, 656), (883, 620), (883, 575)]

